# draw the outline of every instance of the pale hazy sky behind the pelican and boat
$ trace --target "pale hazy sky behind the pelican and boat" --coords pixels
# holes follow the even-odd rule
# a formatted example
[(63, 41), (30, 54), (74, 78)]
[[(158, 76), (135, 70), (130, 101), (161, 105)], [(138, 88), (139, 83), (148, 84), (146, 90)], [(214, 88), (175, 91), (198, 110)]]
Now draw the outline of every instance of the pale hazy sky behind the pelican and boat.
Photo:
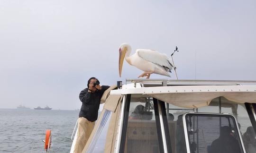
[(255, 0), (0, 0), (0, 108), (79, 109), (91, 76), (137, 78), (126, 61), (119, 77), (123, 42), (178, 46), (179, 79), (256, 80), (255, 27)]

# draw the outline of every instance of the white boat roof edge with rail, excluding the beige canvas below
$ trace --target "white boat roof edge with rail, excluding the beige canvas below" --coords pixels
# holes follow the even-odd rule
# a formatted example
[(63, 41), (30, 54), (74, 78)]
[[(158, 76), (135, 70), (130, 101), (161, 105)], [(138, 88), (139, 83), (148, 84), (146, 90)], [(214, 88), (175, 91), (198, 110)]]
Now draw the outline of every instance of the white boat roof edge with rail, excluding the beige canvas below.
[[(130, 83), (127, 84), (127, 82)], [(121, 89), (112, 90), (110, 94), (196, 92), (256, 92), (256, 81), (126, 79), (126, 85), (123, 85)]]

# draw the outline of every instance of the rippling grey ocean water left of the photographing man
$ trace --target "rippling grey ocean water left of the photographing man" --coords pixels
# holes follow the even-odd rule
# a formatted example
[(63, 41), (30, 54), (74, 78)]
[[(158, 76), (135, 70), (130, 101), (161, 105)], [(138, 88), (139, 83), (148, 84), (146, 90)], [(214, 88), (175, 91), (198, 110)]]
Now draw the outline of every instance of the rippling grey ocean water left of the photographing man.
[(52, 130), (52, 151), (69, 153), (79, 110), (0, 109), (0, 153), (45, 153), (46, 129)]

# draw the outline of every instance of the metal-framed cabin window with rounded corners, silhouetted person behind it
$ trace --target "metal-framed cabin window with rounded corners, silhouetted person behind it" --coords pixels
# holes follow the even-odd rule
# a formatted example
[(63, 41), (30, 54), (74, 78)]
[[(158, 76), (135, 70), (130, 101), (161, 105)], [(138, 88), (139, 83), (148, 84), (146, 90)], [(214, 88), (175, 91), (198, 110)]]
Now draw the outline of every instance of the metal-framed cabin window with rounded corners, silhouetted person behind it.
[(243, 153), (233, 116), (189, 113), (183, 123), (186, 123), (190, 153)]

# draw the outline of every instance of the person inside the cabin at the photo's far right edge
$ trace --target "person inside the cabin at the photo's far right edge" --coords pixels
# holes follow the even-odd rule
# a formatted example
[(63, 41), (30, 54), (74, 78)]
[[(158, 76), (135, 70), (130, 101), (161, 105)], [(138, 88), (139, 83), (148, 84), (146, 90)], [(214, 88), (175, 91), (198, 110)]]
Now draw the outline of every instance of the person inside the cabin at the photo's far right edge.
[(246, 132), (243, 134), (243, 142), (247, 153), (256, 153), (256, 139), (253, 127), (247, 127)]

